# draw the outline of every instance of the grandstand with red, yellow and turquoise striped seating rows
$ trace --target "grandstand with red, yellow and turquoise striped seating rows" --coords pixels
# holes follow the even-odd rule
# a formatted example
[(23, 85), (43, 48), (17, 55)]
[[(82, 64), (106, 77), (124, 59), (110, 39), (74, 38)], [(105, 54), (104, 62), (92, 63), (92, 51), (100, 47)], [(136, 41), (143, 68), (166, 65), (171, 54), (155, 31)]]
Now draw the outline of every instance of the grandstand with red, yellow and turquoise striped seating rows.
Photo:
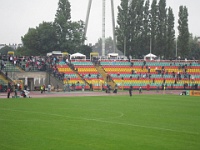
[[(62, 53), (61, 53), (62, 54)], [(80, 54), (80, 53), (77, 53)], [(127, 59), (110, 54), (85, 59), (63, 57), (7, 56), (1, 59), (1, 91), (8, 83), (21, 81), (22, 87), (38, 90), (50, 84), (59, 90), (185, 90), (199, 89), (200, 62), (197, 60)], [(110, 57), (109, 57), (110, 56)]]

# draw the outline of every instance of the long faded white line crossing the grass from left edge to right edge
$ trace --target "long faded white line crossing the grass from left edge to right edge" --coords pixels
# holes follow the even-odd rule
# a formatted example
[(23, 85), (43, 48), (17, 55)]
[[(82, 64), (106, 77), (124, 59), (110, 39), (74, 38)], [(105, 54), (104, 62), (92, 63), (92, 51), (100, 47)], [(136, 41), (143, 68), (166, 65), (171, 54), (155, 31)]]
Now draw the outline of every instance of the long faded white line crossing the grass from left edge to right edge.
[[(34, 112), (34, 111), (26, 111), (26, 110), (16, 110), (16, 109), (1, 109), (1, 110), (27, 112), (27, 113), (42, 114), (42, 115), (49, 115), (49, 116), (58, 116), (58, 117), (65, 117), (65, 118), (78, 119), (78, 120), (96, 121), (96, 122), (101, 122), (101, 123), (109, 123), (109, 124), (125, 125), (125, 126), (132, 126), (132, 127), (140, 127), (140, 128), (146, 128), (146, 129), (154, 129), (154, 130), (161, 130), (161, 131), (170, 131), (170, 132), (176, 132), (176, 133), (199, 135), (198, 132), (180, 131), (180, 130), (174, 130), (174, 129), (168, 129), (168, 128), (143, 126), (143, 125), (138, 125), (138, 124), (112, 122), (112, 121), (99, 120), (98, 118), (97, 119), (89, 119), (89, 118), (83, 118), (83, 117), (71, 117), (71, 116), (64, 116), (64, 115), (59, 115), (59, 114), (50, 114), (50, 113)], [(123, 115), (122, 114), (120, 116), (124, 115), (124, 114)]]

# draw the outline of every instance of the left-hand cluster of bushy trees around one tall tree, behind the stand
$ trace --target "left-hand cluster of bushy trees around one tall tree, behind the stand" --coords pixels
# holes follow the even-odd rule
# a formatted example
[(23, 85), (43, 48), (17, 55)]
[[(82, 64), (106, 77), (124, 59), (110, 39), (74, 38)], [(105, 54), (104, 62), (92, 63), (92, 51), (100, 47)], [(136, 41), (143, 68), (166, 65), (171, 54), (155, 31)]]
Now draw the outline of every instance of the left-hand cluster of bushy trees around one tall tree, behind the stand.
[(59, 0), (53, 22), (42, 22), (36, 28), (29, 28), (21, 37), (23, 47), (17, 49), (18, 55), (46, 55), (52, 51), (73, 54), (86, 53), (92, 48), (84, 45), (84, 22), (71, 20), (71, 5), (68, 0)]

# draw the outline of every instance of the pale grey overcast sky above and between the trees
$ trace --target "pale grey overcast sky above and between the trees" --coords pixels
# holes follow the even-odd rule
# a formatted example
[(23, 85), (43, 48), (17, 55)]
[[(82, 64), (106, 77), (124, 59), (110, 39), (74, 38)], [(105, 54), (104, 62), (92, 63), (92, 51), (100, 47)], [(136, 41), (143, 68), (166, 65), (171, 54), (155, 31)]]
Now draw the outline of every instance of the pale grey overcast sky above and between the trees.
[[(59, 0), (1, 0), (0, 4), (0, 44), (21, 43), (30, 27), (35, 28), (43, 21), (54, 21)], [(115, 18), (117, 6), (121, 0), (114, 0)], [(69, 0), (73, 21), (85, 21), (88, 0)], [(177, 19), (179, 6), (184, 5), (189, 12), (189, 31), (200, 36), (200, 0), (166, 0), (167, 6), (172, 7)], [(86, 43), (95, 43), (101, 37), (102, 30), (102, 0), (93, 0), (90, 20), (87, 30)], [(116, 19), (115, 19), (116, 20)], [(106, 0), (106, 37), (112, 36), (111, 4)]]

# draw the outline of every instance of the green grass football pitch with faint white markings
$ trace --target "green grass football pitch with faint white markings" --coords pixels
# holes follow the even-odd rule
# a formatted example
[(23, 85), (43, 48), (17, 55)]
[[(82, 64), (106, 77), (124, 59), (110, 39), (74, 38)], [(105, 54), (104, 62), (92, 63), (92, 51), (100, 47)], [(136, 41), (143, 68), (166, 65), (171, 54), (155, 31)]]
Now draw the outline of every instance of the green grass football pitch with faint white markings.
[(1, 150), (199, 150), (200, 98), (0, 99)]

